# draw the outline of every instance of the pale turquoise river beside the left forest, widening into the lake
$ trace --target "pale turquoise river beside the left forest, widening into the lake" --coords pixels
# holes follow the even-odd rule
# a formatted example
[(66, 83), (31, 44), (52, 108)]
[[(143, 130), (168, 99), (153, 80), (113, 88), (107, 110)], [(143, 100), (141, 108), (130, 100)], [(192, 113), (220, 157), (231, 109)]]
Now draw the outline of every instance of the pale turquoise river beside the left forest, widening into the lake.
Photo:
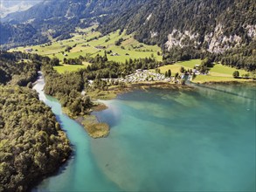
[(58, 99), (45, 95), (44, 86), (45, 79), (39, 72), (33, 89), (38, 92), (39, 99), (52, 108), (61, 128), (71, 141), (73, 155), (57, 173), (45, 178), (31, 191), (120, 191), (121, 189), (102, 174), (93, 161), (90, 150), (90, 141), (93, 139), (77, 121), (62, 113)]

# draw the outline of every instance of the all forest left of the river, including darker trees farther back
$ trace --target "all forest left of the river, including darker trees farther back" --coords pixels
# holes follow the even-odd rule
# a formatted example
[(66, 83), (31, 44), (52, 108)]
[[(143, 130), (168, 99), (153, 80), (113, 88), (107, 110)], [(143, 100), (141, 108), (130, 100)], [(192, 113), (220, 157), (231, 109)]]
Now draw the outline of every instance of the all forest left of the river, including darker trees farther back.
[(22, 52), (0, 54), (0, 191), (27, 191), (71, 153), (51, 108), (29, 88), (49, 60)]

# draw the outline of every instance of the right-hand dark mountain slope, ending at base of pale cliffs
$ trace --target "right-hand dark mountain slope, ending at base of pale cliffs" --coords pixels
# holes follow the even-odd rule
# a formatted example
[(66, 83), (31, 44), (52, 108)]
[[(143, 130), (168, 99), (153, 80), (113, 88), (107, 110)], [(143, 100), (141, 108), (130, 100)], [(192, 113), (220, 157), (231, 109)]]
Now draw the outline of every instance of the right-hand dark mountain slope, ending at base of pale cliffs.
[(147, 44), (193, 45), (222, 52), (247, 44), (256, 37), (253, 0), (161, 0), (148, 1), (139, 10), (129, 9), (121, 17), (109, 17), (100, 27), (105, 33), (118, 26), (135, 31)]

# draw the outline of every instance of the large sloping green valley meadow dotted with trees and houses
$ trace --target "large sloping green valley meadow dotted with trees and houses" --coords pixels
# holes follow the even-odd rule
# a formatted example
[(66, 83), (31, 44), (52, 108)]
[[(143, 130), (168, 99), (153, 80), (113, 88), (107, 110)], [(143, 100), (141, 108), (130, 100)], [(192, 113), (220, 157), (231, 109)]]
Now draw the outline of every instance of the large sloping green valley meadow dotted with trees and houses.
[[(157, 55), (157, 52), (161, 52), (160, 47), (157, 45), (152, 46), (139, 43), (135, 38), (133, 38), (133, 35), (126, 35), (125, 31), (122, 33), (120, 33), (120, 31), (114, 31), (106, 36), (100, 37), (100, 32), (93, 30), (95, 28), (96, 26), (86, 29), (78, 28), (76, 32), (72, 34), (73, 38), (62, 41), (53, 39), (51, 44), (17, 47), (10, 51), (25, 51), (27, 49), (32, 49), (31, 53), (38, 53), (50, 58), (59, 58), (61, 61), (60, 64), (63, 64), (62, 61), (64, 58), (79, 58), (80, 55), (85, 56), (87, 53), (91, 54), (93, 57), (97, 54), (104, 55), (105, 51), (112, 51), (113, 53), (116, 53), (116, 56), (111, 56), (110, 54), (107, 55), (108, 60), (116, 62), (125, 62), (125, 60), (129, 58), (149, 58), (150, 56), (154, 56), (159, 61), (162, 60), (162, 56)], [(114, 45), (114, 43), (120, 38), (124, 39), (124, 41), (121, 42), (121, 45)], [(69, 52), (65, 51), (67, 46), (73, 48)], [(105, 46), (106, 48), (99, 49), (96, 46)], [(67, 56), (64, 56), (65, 54)], [(80, 67), (83, 66), (63, 65), (55, 68), (58, 72), (64, 72), (68, 70), (74, 71)]]

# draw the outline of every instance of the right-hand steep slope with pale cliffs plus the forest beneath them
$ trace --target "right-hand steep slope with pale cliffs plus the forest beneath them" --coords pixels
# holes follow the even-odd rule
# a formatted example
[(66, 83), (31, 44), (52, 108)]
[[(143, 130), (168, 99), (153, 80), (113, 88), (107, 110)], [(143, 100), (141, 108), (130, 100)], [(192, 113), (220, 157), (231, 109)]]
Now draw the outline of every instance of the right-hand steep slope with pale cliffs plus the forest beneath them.
[(149, 0), (100, 23), (103, 34), (126, 29), (143, 43), (160, 45), (166, 63), (211, 57), (248, 71), (256, 68), (253, 0)]

